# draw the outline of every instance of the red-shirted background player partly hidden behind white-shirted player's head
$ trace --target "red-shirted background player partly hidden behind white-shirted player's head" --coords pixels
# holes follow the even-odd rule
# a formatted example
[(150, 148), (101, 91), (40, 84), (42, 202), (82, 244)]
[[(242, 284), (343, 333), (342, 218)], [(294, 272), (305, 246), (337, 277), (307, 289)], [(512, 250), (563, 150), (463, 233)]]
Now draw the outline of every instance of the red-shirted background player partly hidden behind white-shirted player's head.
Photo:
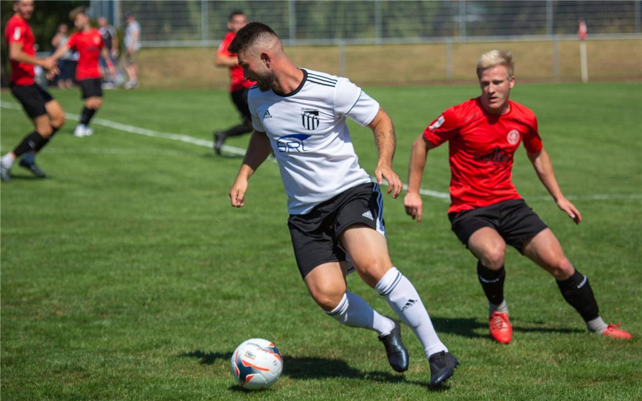
[(230, 53), (227, 47), (230, 46), (236, 33), (247, 25), (247, 17), (241, 11), (234, 11), (230, 14), (230, 20), (227, 22), (229, 32), (221, 41), (216, 51), (216, 58), (214, 58), (214, 65), (216, 67), (225, 67), (230, 69), (230, 87), (229, 92), (232, 96), (234, 105), (241, 113), (243, 123), (228, 128), (225, 131), (214, 131), (214, 151), (217, 155), (221, 153), (221, 147), (227, 137), (235, 137), (236, 135), (243, 135), (244, 133), (252, 132), (252, 117), (250, 116), (250, 109), (247, 105), (247, 91), (254, 85), (254, 81), (248, 81), (243, 77), (243, 69), (238, 63), (236, 53)]

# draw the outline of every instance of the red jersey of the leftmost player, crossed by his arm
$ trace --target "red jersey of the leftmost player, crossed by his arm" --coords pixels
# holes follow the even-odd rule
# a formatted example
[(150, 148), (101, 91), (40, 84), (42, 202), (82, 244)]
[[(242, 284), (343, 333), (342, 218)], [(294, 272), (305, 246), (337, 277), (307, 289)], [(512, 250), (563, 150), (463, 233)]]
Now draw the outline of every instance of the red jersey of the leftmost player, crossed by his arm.
[[(4, 38), (6, 38), (7, 46), (12, 43), (19, 43), (22, 45), (22, 51), (26, 55), (33, 56), (36, 54), (33, 49), (33, 44), (36, 38), (33, 36), (33, 31), (27, 21), (18, 14), (6, 22), (4, 26)], [(11, 81), (16, 85), (32, 85), (34, 83), (33, 77), (33, 64), (21, 63), (17, 61), (11, 62)]]

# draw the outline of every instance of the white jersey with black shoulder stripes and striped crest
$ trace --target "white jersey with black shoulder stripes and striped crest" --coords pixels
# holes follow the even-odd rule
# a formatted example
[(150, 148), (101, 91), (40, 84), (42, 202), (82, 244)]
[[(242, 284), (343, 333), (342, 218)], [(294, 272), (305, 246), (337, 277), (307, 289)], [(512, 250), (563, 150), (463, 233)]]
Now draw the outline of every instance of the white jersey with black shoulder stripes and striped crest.
[(371, 182), (359, 166), (345, 117), (365, 126), (379, 103), (350, 80), (309, 69), (290, 94), (248, 92), (252, 124), (270, 138), (288, 194), (288, 212), (306, 214), (322, 201)]

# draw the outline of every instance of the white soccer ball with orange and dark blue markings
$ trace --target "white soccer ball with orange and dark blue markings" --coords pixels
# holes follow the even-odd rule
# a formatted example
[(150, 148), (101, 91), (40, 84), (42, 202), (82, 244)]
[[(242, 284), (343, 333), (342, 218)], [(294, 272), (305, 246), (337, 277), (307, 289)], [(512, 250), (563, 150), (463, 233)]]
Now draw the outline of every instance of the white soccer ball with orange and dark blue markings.
[(232, 354), (232, 376), (248, 390), (263, 390), (277, 382), (283, 360), (277, 347), (263, 338), (250, 338)]

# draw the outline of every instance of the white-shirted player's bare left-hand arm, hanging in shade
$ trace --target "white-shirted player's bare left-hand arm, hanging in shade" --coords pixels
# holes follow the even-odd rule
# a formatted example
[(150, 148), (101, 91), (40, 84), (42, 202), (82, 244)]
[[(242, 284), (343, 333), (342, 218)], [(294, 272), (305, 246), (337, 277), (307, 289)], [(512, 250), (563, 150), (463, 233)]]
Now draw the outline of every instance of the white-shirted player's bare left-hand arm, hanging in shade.
[(239, 169), (236, 180), (230, 189), (229, 195), (233, 207), (243, 207), (245, 205), (245, 192), (247, 192), (248, 180), (254, 174), (261, 163), (270, 155), (270, 139), (265, 132), (254, 130), (250, 144), (245, 151), (243, 164)]

